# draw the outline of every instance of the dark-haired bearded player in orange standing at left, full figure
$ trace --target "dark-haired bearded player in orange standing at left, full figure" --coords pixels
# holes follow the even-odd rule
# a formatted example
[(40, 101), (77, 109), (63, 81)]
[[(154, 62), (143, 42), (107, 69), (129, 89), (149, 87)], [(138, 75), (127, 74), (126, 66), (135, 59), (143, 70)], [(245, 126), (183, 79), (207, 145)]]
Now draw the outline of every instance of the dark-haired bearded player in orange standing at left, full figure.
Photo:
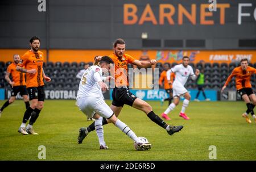
[[(23, 135), (38, 135), (32, 128), (32, 125), (35, 123), (36, 119), (38, 119), (40, 111), (44, 106), (45, 94), (43, 79), (46, 79), (46, 81), (49, 82), (51, 81), (51, 78), (44, 74), (44, 54), (39, 51), (40, 39), (36, 36), (32, 37), (30, 39), (30, 47), (31, 49), (23, 54), (16, 67), (16, 70), (19, 72), (27, 73), (27, 91), (30, 96), (30, 107), (28, 107), (24, 113), (22, 124), (20, 125), (18, 132)], [(26, 123), (30, 116), (30, 122), (26, 127)]]

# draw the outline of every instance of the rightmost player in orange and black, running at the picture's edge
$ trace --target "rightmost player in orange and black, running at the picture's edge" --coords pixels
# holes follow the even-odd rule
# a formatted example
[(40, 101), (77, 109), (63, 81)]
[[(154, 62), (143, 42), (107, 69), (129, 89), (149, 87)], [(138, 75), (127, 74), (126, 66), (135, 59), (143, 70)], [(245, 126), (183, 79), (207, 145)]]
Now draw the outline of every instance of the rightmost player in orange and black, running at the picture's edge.
[(243, 118), (246, 119), (247, 123), (251, 123), (251, 120), (248, 117), (249, 113), (251, 113), (256, 123), (256, 116), (254, 115), (254, 111), (253, 111), (256, 104), (256, 96), (254, 94), (253, 89), (251, 88), (251, 83), (250, 83), (252, 74), (256, 74), (256, 69), (251, 66), (248, 66), (247, 58), (243, 58), (241, 60), (241, 66), (234, 68), (234, 70), (226, 80), (225, 85), (221, 89), (221, 92), (222, 92), (226, 88), (228, 83), (231, 81), (231, 79), (233, 77), (236, 77), (237, 91), (241, 95), (243, 100), (245, 100), (245, 103), (247, 106), (246, 112), (242, 114)]

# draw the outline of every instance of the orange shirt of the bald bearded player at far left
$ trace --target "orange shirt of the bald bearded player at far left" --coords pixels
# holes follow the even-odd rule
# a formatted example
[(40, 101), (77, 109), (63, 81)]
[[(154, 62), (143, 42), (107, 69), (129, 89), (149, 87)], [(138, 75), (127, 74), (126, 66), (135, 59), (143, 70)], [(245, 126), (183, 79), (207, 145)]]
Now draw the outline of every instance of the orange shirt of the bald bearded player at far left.
[(7, 72), (11, 74), (14, 86), (25, 86), (25, 73), (16, 70), (16, 64), (13, 62), (7, 67)]

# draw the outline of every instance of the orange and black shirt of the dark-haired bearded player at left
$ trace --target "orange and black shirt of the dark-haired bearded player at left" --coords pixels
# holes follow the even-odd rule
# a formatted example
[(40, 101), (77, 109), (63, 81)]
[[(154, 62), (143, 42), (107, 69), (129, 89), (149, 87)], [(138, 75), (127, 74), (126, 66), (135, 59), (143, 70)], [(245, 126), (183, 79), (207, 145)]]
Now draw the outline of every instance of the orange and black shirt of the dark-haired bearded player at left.
[(21, 57), (19, 66), (26, 68), (27, 70), (36, 69), (35, 74), (27, 73), (27, 87), (39, 87), (43, 86), (43, 62), (44, 54), (43, 52), (32, 52), (31, 50), (27, 51)]

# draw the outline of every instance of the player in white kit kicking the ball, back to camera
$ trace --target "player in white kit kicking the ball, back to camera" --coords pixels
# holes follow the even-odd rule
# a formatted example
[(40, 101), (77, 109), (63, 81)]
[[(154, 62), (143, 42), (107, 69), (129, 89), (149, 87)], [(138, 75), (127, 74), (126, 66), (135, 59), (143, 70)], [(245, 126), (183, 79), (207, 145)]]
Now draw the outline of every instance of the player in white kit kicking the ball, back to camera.
[[(118, 127), (127, 136), (131, 137), (135, 142), (137, 142), (139, 149), (148, 150), (151, 149), (150, 143), (142, 143), (135, 133), (121, 120), (119, 120), (108, 104), (105, 103), (102, 91), (108, 90), (106, 83), (102, 81), (102, 68), (110, 70), (110, 64), (114, 64), (113, 60), (104, 56), (101, 58), (99, 66), (93, 65), (85, 70), (84, 75), (82, 75), (79, 91), (77, 93), (77, 106), (84, 112), (89, 118), (95, 119), (95, 128), (100, 142), (100, 149), (108, 149), (104, 141), (104, 131), (102, 125), (102, 117), (108, 119), (116, 127)], [(101, 91), (102, 90), (102, 91)], [(81, 144), (85, 135), (85, 128), (79, 129), (78, 143)]]

